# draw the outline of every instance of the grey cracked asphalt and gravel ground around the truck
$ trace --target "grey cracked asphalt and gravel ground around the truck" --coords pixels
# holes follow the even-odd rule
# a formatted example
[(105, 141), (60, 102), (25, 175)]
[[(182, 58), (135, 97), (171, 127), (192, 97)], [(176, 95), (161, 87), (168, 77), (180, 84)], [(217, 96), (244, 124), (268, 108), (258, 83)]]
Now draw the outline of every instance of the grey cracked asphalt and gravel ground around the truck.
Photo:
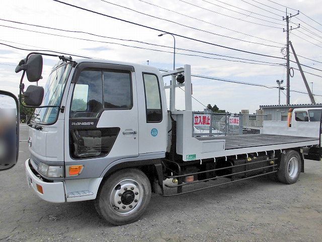
[(112, 226), (93, 201), (49, 203), (28, 188), (27, 139), (22, 126), (18, 164), (0, 172), (0, 241), (322, 241), (322, 162), (305, 160), (293, 185), (259, 177), (171, 198), (152, 194), (139, 221)]

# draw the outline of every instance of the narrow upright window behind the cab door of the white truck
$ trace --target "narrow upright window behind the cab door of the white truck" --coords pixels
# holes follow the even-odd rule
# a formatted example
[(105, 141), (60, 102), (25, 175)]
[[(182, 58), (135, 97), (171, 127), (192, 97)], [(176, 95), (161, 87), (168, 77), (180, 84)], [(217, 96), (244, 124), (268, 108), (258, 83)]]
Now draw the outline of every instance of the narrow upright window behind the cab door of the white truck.
[(162, 104), (157, 77), (153, 74), (143, 74), (146, 122), (159, 123), (162, 121)]

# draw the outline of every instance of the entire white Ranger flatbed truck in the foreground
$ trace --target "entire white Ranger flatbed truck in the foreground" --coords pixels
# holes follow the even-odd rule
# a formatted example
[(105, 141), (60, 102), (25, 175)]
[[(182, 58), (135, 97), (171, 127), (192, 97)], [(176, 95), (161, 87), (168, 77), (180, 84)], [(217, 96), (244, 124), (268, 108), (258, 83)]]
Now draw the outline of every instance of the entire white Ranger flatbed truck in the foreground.
[[(25, 73), (31, 82), (41, 78), (42, 55), (60, 61), (44, 88), (24, 91)], [(293, 184), (305, 156), (321, 157), (320, 117), (311, 122), (317, 124), (311, 137), (298, 135), (293, 123), (285, 127), (292, 129), (287, 135), (264, 128), (258, 135), (194, 137), (194, 124), (216, 127), (211, 114), (192, 111), (189, 65), (160, 73), (146, 65), (30, 53), (16, 72), (22, 70), (21, 105), (36, 107), (28, 122), (28, 185), (49, 202), (95, 200), (98, 213), (115, 225), (136, 221), (151, 192), (175, 196), (196, 191), (186, 187), (202, 181), (222, 178), (227, 184), (267, 174)], [(165, 76), (172, 76), (171, 86), (164, 85)], [(177, 111), (175, 90), (183, 86), (185, 111)], [(167, 178), (178, 183), (165, 185)], [(176, 193), (165, 195), (164, 186)]]

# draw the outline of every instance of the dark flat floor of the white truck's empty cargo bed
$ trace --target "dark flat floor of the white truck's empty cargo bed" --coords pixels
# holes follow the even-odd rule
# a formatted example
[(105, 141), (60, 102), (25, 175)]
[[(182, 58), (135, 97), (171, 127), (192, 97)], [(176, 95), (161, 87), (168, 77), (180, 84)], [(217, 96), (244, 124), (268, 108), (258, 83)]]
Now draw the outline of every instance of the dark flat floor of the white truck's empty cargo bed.
[(306, 141), (316, 141), (318, 144), (318, 138), (309, 137), (297, 137), (297, 136), (284, 136), (284, 135), (236, 135), (236, 136), (217, 136), (217, 137), (196, 137), (200, 141), (206, 140), (225, 140), (225, 150), (258, 147), (258, 146), (270, 146), (290, 143), (300, 143)]

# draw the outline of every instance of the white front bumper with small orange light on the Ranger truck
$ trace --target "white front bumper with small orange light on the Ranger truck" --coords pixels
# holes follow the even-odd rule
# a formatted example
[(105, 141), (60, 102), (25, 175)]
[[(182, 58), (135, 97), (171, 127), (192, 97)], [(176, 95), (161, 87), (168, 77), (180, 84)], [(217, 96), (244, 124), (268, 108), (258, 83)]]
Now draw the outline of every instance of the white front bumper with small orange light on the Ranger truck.
[[(25, 167), (27, 183), (41, 199), (52, 203), (64, 203), (66, 201), (63, 181), (48, 183), (39, 179), (29, 166), (29, 159), (26, 160)], [(42, 190), (42, 193), (39, 190)]]

